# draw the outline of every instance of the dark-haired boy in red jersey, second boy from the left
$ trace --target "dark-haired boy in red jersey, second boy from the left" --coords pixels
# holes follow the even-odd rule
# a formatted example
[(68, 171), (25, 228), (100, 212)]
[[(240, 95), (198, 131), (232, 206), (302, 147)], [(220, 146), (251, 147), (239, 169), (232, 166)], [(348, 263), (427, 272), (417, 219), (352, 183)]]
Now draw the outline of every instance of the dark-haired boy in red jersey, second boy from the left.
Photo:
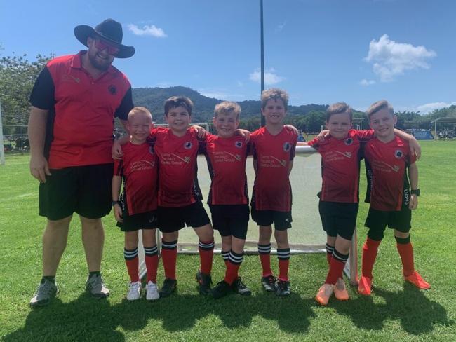
[[(192, 226), (199, 237), (201, 268), (196, 273), (200, 294), (210, 294), (210, 271), (214, 252), (214, 233), (210, 219), (201, 203), (202, 196), (196, 177), (196, 157), (204, 142), (189, 128), (193, 103), (188, 97), (170, 97), (165, 102), (165, 118), (169, 128), (156, 128), (149, 138), (159, 160), (159, 229), (163, 233), (161, 259), (165, 280), (160, 296), (170, 296), (177, 289), (176, 261), (179, 230)], [(122, 139), (120, 144), (124, 143)], [(119, 156), (119, 143), (113, 156)]]

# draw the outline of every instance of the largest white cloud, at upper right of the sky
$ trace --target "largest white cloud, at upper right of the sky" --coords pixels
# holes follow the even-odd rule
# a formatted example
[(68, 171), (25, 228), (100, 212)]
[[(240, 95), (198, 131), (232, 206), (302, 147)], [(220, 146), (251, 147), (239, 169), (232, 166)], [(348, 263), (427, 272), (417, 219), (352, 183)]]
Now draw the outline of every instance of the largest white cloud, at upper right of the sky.
[(436, 55), (433, 50), (427, 50), (424, 46), (391, 41), (388, 35), (384, 34), (378, 41), (370, 41), (365, 60), (373, 63), (373, 71), (380, 76), (380, 81), (390, 82), (405, 71), (429, 69), (426, 61)]

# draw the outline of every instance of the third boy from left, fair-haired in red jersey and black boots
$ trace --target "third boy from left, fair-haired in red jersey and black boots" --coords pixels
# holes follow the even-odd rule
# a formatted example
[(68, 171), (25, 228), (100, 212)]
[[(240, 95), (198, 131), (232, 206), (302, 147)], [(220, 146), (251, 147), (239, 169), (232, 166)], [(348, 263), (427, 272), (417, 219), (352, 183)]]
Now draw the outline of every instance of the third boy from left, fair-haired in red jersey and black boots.
[(218, 135), (206, 138), (206, 160), (211, 178), (208, 205), (214, 229), (222, 236), (222, 257), (227, 266), (224, 280), (212, 290), (215, 299), (237, 292), (252, 292), (238, 275), (243, 261), (249, 219), (246, 139), (235, 135), (241, 107), (236, 102), (215, 106), (213, 123)]

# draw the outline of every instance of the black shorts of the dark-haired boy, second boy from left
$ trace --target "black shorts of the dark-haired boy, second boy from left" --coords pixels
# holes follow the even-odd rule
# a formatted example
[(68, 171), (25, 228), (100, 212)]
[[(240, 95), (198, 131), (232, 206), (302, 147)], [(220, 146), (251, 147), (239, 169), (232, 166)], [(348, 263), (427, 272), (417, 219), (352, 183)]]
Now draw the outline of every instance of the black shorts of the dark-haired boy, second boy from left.
[(187, 227), (199, 228), (210, 224), (201, 200), (186, 207), (159, 207), (159, 229), (172, 233)]

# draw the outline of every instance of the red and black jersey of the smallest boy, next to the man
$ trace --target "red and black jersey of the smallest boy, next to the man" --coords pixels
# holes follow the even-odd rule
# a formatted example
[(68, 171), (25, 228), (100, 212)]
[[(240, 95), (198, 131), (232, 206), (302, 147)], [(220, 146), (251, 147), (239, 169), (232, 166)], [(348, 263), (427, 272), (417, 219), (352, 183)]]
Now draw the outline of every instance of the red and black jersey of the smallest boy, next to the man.
[(123, 196), (128, 214), (150, 212), (157, 208), (158, 165), (151, 144), (122, 146), (123, 158), (114, 160), (114, 175), (123, 177)]

